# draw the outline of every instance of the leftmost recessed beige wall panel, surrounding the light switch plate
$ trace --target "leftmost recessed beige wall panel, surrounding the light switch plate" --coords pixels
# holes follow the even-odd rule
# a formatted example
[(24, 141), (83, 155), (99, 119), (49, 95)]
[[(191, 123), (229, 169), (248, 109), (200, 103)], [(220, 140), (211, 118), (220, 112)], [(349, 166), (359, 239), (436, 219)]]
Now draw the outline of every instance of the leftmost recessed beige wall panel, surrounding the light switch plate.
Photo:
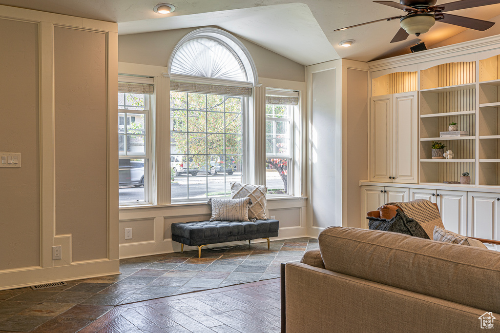
[(40, 265), (38, 25), (0, 19), (0, 270)]

